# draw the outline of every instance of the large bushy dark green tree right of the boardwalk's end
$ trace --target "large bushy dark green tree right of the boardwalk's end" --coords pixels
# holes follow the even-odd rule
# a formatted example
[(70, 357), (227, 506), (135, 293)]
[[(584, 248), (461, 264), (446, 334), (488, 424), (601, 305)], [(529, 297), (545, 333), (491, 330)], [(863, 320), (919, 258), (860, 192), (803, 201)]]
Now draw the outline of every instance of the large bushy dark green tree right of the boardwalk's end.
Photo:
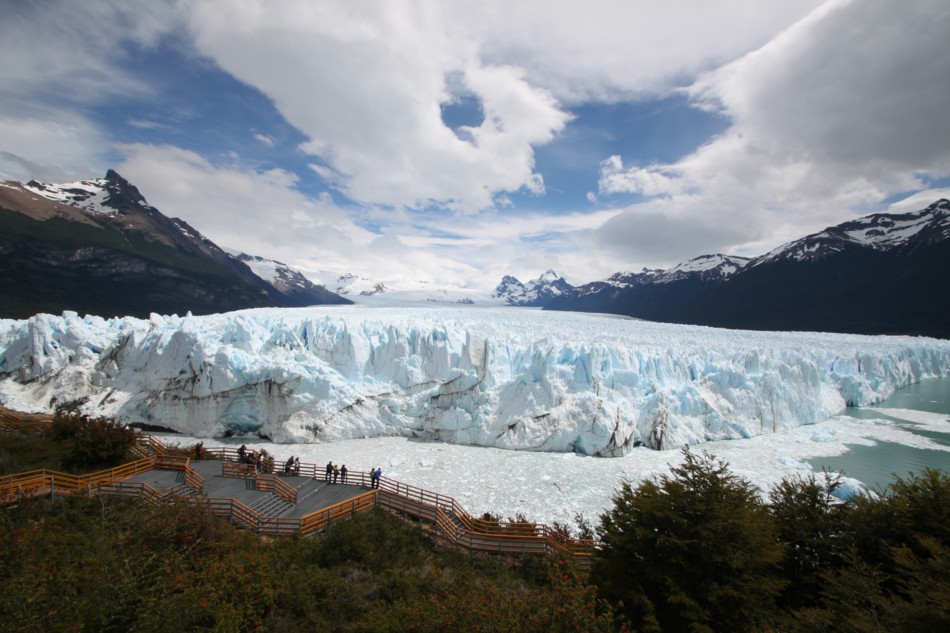
[(763, 630), (783, 586), (772, 518), (724, 462), (683, 455), (669, 475), (621, 484), (591, 580), (635, 630)]

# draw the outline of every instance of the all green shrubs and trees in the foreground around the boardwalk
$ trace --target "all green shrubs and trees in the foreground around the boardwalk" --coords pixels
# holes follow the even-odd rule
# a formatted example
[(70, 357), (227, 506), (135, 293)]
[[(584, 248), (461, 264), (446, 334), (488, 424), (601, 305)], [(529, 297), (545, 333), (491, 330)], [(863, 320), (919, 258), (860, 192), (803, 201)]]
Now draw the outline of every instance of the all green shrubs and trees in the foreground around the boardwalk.
[[(0, 464), (10, 472), (46, 450), (75, 469), (114, 465), (127, 454), (124, 432), (66, 407), (43, 435), (0, 434)], [(0, 622), (105, 632), (950, 630), (945, 473), (897, 478), (846, 504), (833, 503), (837, 479), (796, 478), (766, 501), (723, 462), (684, 457), (669, 474), (623, 483), (596, 528), (579, 523), (601, 540), (589, 575), (559, 558), (469, 554), (382, 510), (272, 539), (187, 504), (35, 500), (0, 512)]]

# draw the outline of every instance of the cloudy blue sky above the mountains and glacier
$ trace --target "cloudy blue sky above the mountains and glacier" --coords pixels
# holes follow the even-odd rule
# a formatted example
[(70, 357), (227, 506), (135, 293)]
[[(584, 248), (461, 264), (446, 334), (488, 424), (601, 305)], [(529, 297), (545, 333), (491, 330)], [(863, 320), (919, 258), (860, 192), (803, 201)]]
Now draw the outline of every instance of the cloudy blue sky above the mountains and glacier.
[(950, 197), (946, 0), (0, 0), (0, 179), (317, 282), (572, 284)]

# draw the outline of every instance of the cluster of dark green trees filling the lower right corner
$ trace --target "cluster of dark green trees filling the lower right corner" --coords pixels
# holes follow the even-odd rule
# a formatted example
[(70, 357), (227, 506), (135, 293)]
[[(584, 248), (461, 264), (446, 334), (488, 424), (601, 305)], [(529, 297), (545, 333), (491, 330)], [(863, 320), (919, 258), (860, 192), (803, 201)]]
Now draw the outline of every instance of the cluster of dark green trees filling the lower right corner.
[(637, 631), (950, 630), (950, 478), (831, 503), (833, 478), (763, 502), (708, 454), (624, 483), (591, 580)]

